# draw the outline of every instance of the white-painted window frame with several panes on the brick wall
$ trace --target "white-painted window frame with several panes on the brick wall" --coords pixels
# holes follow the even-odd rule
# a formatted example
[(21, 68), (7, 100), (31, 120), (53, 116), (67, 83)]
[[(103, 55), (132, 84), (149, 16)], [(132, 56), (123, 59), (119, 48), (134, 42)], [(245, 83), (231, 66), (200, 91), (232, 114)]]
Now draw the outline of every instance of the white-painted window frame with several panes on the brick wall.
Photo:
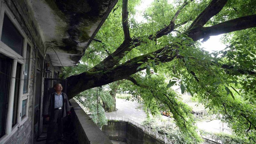
[[(6, 14), (9, 19), (12, 21), (13, 25), (17, 28), (17, 30), (20, 32), (20, 34), (23, 36), (23, 52), (22, 56), (19, 55), (17, 52), (12, 50), (9, 46), (4, 44), (1, 41), (2, 36), (2, 28), (3, 28), (3, 21), (4, 21), (4, 14)], [(0, 138), (0, 143), (5, 143), (9, 138), (19, 129), (19, 127), (24, 124), (28, 120), (28, 104), (29, 104), (29, 93), (30, 93), (30, 80), (28, 80), (28, 92), (23, 94), (23, 84), (24, 84), (24, 70), (25, 70), (25, 57), (26, 57), (26, 50), (27, 50), (27, 44), (31, 46), (30, 48), (30, 58), (32, 57), (32, 50), (33, 45), (29, 42), (26, 33), (21, 28), (19, 22), (15, 19), (12, 12), (9, 10), (8, 6), (5, 3), (1, 3), (1, 9), (0, 9), (0, 53), (6, 55), (7, 57), (10, 57), (13, 60), (12, 63), (12, 77), (16, 77), (16, 67), (17, 62), (19, 62), (22, 65), (21, 68), (21, 80), (20, 80), (20, 93), (18, 98), (18, 114), (17, 114), (17, 124), (15, 124), (12, 127), (12, 113), (13, 113), (13, 100), (14, 100), (14, 87), (15, 87), (15, 78), (11, 78), (10, 83), (10, 90), (9, 90), (9, 98), (8, 98), (8, 110), (7, 110), (7, 118), (6, 118), (6, 131), (5, 135)], [(15, 58), (14, 58), (15, 57)], [(30, 79), (31, 74), (31, 63), (32, 60), (29, 60), (29, 74), (28, 79)], [(22, 110), (22, 100), (27, 100), (27, 108), (26, 108), (26, 116), (21, 119), (21, 110)]]

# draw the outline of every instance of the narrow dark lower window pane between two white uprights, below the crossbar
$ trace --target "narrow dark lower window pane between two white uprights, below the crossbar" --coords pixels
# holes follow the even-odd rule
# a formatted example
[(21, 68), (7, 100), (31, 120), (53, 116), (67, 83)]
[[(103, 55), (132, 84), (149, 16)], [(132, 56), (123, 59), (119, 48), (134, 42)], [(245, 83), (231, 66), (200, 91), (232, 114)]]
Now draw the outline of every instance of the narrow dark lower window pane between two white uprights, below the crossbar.
[(22, 67), (22, 65), (20, 63), (17, 63), (16, 79), (15, 79), (15, 87), (14, 87), (12, 126), (17, 124), (17, 118), (18, 118), (18, 104), (19, 104), (19, 97), (20, 97), (20, 74), (21, 74), (21, 67)]

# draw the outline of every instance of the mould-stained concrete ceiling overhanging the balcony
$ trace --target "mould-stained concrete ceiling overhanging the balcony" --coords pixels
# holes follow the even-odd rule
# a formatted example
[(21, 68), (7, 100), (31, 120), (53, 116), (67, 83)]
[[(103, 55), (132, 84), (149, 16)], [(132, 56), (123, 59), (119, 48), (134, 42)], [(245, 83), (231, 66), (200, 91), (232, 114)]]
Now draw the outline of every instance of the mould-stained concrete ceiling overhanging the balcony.
[(117, 1), (29, 0), (53, 66), (76, 65)]

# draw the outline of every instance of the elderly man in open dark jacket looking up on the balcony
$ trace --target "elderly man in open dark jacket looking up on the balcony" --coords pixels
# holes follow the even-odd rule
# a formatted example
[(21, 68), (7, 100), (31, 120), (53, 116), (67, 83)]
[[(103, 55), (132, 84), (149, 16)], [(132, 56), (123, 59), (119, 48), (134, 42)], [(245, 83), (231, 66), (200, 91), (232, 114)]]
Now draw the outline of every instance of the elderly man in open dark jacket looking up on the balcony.
[(68, 103), (68, 96), (62, 91), (61, 84), (55, 84), (54, 90), (48, 96), (44, 103), (44, 117), (46, 121), (50, 121), (47, 130), (46, 143), (50, 142), (55, 125), (58, 123), (58, 140), (64, 140), (62, 134), (62, 118), (70, 114), (70, 107)]

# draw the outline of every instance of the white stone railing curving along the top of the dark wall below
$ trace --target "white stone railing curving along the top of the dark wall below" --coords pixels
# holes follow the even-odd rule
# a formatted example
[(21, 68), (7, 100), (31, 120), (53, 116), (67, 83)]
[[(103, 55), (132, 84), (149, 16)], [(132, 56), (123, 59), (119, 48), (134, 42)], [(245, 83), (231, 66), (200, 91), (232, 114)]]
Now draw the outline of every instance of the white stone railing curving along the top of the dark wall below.
[(140, 128), (143, 132), (155, 137), (157, 140), (163, 141), (165, 144), (175, 144), (176, 143), (174, 140), (167, 138), (166, 135), (159, 134), (157, 131), (155, 132), (155, 131), (151, 130), (150, 128), (147, 128), (137, 122), (134, 122), (130, 118), (117, 117), (117, 116), (116, 117), (106, 116), (106, 118), (108, 120), (124, 121), (124, 122), (128, 122), (130, 124), (133, 124), (134, 126)]

